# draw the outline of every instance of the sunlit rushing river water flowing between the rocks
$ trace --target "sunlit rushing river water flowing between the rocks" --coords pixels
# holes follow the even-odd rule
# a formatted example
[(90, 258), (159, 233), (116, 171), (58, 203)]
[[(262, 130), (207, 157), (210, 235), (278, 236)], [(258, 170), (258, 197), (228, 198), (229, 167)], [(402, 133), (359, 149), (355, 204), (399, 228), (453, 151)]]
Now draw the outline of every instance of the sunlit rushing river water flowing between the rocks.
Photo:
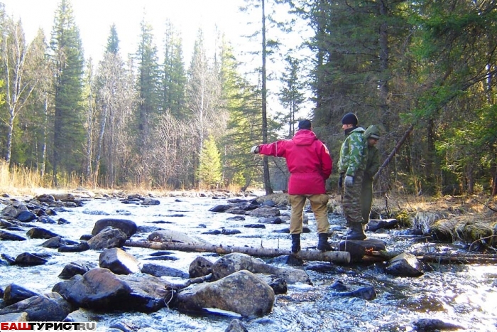
[[(258, 222), (258, 218), (246, 216), (246, 220), (229, 220), (234, 215), (212, 213), (209, 208), (225, 204), (224, 199), (201, 197), (158, 198), (160, 205), (144, 206), (121, 203), (116, 198), (88, 200), (79, 208), (59, 211), (54, 219), (65, 218), (67, 225), (31, 223), (51, 230), (70, 240), (79, 240), (92, 232), (94, 223), (102, 218), (123, 218), (133, 220), (138, 226), (156, 226), (186, 232), (201, 237), (213, 245), (280, 247), (290, 249), (288, 234), (275, 232), (288, 228), (287, 224), (265, 224), (266, 229), (244, 227)], [(4, 208), (0, 204), (0, 208)], [(281, 210), (281, 213), (289, 213)], [(307, 213), (310, 233), (302, 234), (302, 247), (316, 245), (316, 225), (312, 213)], [(344, 218), (329, 215), (332, 228), (344, 230)], [(236, 235), (205, 235), (209, 230), (240, 230)], [(26, 230), (16, 234), (26, 236)], [(137, 233), (131, 240), (146, 239), (148, 233)], [(419, 251), (427, 244), (399, 232), (368, 234), (369, 237), (384, 240), (387, 250)], [(337, 237), (332, 237), (336, 240)], [(86, 260), (98, 264), (99, 253), (93, 250), (77, 253), (59, 253), (57, 250), (41, 247), (45, 240), (30, 239), (23, 242), (0, 241), (0, 253), (16, 257), (22, 252), (50, 254), (48, 264), (35, 267), (0, 265), (0, 288), (11, 283), (44, 293), (61, 281), (58, 274), (65, 264), (75, 260)], [(448, 245), (433, 245), (435, 250), (444, 250)], [(174, 252), (178, 260), (148, 261), (155, 250), (126, 248), (141, 262), (153, 262), (188, 272), (190, 262), (198, 255), (204, 255), (213, 262), (213, 254), (195, 252)], [(241, 319), (250, 332), (283, 331), (415, 331), (413, 322), (421, 318), (440, 319), (462, 328), (457, 331), (496, 331), (497, 328), (497, 266), (476, 264), (430, 264), (422, 277), (393, 277), (383, 272), (383, 264), (353, 264), (339, 266), (324, 263), (327, 269), (313, 269), (320, 262), (306, 262), (312, 286), (289, 285), (286, 294), (275, 296), (271, 314), (261, 318)], [(322, 265), (321, 265), (322, 266)], [(174, 280), (173, 278), (170, 278)], [(332, 284), (340, 280), (356, 289), (373, 286), (377, 297), (372, 301), (354, 297), (334, 296)], [(1, 305), (1, 301), (0, 301)], [(125, 323), (133, 331), (212, 331), (222, 332), (233, 319), (229, 316), (181, 314), (174, 309), (160, 309), (151, 314), (143, 313), (91, 313), (97, 321), (97, 331), (109, 331), (109, 326)], [(464, 328), (464, 329), (463, 329)]]

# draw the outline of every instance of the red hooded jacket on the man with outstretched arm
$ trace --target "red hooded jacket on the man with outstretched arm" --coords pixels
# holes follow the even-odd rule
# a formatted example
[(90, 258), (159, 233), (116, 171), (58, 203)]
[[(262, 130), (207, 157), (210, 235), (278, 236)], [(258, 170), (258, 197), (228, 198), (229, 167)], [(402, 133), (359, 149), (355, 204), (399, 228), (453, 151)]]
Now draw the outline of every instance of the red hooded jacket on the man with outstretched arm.
[(259, 154), (286, 159), (290, 195), (326, 193), (324, 181), (332, 173), (333, 160), (327, 147), (311, 130), (300, 129), (292, 139), (262, 144)]

